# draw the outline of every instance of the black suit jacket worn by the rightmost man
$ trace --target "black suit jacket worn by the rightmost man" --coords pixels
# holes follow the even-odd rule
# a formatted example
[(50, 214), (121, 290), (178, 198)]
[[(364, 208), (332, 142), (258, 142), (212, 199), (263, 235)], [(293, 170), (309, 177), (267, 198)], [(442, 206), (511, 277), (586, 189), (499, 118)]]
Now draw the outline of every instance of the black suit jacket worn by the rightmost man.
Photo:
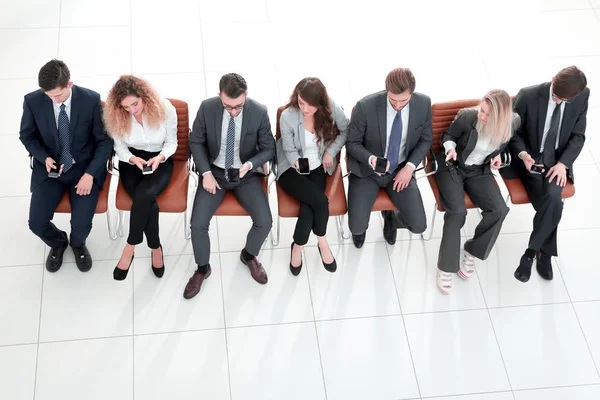
[[(523, 161), (518, 158), (520, 152), (526, 151), (534, 158), (540, 155), (550, 99), (550, 85), (550, 82), (546, 82), (526, 87), (521, 89), (515, 97), (513, 106), (521, 116), (521, 127), (508, 145), (513, 162), (511, 163), (512, 168), (504, 168), (502, 171), (502, 176), (507, 179), (517, 177), (525, 168)], [(565, 104), (560, 126), (556, 159), (568, 168), (567, 175), (571, 180), (573, 180), (573, 162), (577, 159), (585, 142), (589, 98), (590, 89), (585, 88), (571, 103)]]

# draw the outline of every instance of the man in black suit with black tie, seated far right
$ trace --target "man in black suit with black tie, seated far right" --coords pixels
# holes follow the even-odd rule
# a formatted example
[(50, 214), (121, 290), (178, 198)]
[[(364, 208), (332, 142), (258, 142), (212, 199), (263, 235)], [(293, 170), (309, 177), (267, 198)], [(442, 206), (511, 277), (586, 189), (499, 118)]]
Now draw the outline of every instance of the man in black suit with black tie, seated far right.
[(529, 246), (515, 271), (515, 278), (521, 282), (529, 280), (534, 258), (540, 276), (553, 278), (551, 257), (558, 255), (561, 194), (567, 179), (573, 181), (573, 162), (585, 142), (590, 97), (586, 85), (584, 73), (568, 67), (552, 82), (521, 89), (514, 100), (521, 127), (509, 143), (514, 160), (511, 169), (502, 171), (502, 175), (521, 179), (536, 210)]

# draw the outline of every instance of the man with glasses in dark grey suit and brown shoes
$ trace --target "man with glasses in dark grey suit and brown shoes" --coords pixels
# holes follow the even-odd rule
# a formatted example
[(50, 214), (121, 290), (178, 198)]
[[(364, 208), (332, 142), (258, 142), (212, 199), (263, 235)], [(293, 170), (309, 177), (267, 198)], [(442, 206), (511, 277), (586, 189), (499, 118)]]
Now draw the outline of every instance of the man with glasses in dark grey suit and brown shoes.
[(267, 109), (247, 95), (244, 78), (235, 73), (223, 75), (219, 96), (204, 100), (194, 121), (190, 149), (202, 176), (202, 189), (196, 192), (192, 210), (192, 246), (198, 269), (185, 287), (186, 299), (197, 295), (210, 276), (208, 226), (227, 191), (233, 192), (253, 223), (240, 259), (254, 280), (267, 283), (267, 273), (256, 256), (273, 219), (255, 170), (274, 159), (275, 139)]

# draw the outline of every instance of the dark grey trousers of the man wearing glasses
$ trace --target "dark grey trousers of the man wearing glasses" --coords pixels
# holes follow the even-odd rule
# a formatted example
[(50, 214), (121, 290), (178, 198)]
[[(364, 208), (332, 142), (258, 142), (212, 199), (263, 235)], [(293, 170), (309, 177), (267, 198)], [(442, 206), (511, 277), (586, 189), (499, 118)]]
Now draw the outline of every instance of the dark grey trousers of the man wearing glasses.
[[(210, 260), (208, 227), (228, 190), (233, 192), (252, 218), (252, 228), (248, 232), (245, 249), (253, 256), (258, 256), (273, 225), (269, 201), (262, 187), (260, 174), (250, 172), (239, 182), (229, 183), (225, 180), (224, 171), (221, 168), (213, 166), (211, 171), (221, 189), (217, 189), (215, 194), (210, 194), (200, 186), (196, 191), (192, 209), (192, 247), (196, 264), (206, 265)], [(226, 238), (227, 234), (224, 237)]]

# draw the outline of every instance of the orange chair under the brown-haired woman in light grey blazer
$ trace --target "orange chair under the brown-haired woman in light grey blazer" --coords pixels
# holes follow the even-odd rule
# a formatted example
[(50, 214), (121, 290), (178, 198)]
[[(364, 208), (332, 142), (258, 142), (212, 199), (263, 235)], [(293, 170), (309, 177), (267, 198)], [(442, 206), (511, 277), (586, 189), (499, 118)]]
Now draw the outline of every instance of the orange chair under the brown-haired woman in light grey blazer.
[[(275, 140), (281, 137), (281, 129), (279, 127), (279, 118), (285, 110), (285, 106), (277, 109), (277, 123), (275, 130)], [(338, 235), (340, 241), (349, 239), (350, 235), (344, 232), (344, 215), (348, 212), (346, 205), (346, 192), (344, 191), (344, 177), (342, 175), (342, 166), (340, 164), (340, 155), (338, 154), (338, 164), (332, 175), (327, 175), (325, 184), (325, 195), (329, 199), (329, 215), (336, 217), (338, 226)], [(280, 221), (281, 218), (298, 217), (300, 212), (300, 202), (286, 193), (279, 185), (277, 187), (277, 238), (273, 240), (273, 245), (279, 244)]]

